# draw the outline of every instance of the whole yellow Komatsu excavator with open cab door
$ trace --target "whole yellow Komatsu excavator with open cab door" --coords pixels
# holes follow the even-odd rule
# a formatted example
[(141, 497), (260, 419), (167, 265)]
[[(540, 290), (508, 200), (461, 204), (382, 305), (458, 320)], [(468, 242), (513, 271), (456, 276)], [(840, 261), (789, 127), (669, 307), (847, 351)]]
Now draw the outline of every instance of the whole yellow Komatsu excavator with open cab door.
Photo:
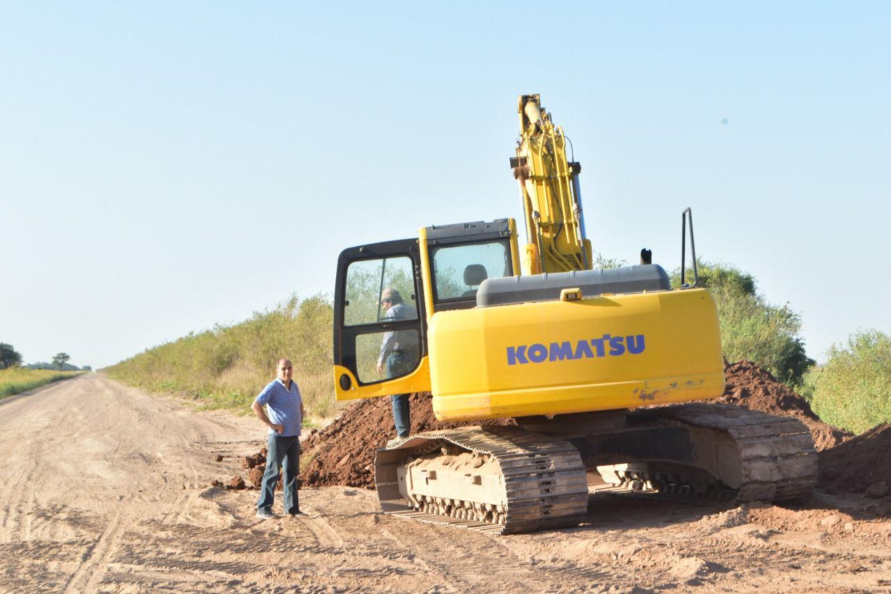
[[(646, 249), (639, 265), (593, 268), (568, 139), (539, 95), (521, 95), (518, 113), (511, 169), (525, 243), (514, 219), (498, 219), (339, 256), (338, 400), (431, 392), (439, 420), (515, 420), (391, 441), (375, 461), (382, 509), (500, 534), (578, 524), (597, 491), (740, 501), (811, 491), (805, 425), (696, 402), (720, 396), (724, 375), (691, 211), (679, 288)], [(411, 306), (400, 316), (381, 303), (393, 294)], [(385, 349), (403, 364), (381, 376)]]

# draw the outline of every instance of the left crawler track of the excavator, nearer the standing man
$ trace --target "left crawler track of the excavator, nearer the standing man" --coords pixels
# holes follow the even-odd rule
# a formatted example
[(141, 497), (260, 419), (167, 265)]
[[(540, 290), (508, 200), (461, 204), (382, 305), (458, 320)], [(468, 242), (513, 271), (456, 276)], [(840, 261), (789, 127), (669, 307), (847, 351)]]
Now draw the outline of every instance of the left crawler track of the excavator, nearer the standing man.
[[(503, 477), (500, 500), (480, 503), (419, 497), (410, 505), (399, 491), (399, 466), (408, 458), (454, 446), (489, 463), (494, 460)], [(473, 478), (470, 473), (468, 477)], [(470, 426), (418, 433), (378, 450), (375, 482), (381, 507), (388, 514), (494, 534), (576, 525), (588, 503), (587, 477), (578, 450), (568, 441), (518, 427)]]

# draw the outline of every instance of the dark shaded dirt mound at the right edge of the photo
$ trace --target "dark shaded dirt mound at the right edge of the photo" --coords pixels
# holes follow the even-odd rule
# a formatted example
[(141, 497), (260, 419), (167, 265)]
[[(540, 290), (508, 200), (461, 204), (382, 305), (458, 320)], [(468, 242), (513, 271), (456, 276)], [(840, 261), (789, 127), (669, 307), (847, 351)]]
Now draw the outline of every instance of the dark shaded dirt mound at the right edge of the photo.
[(820, 483), (827, 491), (857, 493), (891, 484), (891, 425), (873, 427), (819, 457)]

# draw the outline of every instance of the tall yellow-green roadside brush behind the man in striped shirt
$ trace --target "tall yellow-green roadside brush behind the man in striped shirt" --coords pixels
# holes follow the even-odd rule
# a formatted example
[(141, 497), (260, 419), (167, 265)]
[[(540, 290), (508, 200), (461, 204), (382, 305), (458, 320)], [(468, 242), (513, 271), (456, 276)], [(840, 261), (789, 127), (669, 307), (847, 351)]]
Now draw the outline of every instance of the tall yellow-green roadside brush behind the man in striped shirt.
[(250, 403), (275, 377), (278, 359), (294, 364), (307, 419), (324, 425), (338, 410), (331, 375), (331, 299), (292, 297), (274, 309), (256, 312), (231, 326), (148, 349), (103, 371), (149, 392), (192, 400), (201, 410), (225, 409), (252, 414)]

